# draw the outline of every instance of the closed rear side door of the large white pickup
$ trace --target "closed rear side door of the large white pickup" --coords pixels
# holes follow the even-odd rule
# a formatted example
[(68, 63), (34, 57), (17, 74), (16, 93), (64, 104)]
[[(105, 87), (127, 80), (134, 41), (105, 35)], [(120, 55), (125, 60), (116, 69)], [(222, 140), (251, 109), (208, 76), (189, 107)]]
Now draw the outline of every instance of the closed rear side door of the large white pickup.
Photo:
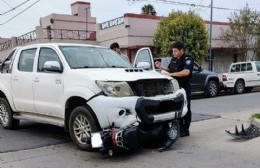
[(34, 112), (32, 76), (33, 64), (37, 48), (25, 49), (15, 59), (12, 69), (12, 95), (17, 111)]

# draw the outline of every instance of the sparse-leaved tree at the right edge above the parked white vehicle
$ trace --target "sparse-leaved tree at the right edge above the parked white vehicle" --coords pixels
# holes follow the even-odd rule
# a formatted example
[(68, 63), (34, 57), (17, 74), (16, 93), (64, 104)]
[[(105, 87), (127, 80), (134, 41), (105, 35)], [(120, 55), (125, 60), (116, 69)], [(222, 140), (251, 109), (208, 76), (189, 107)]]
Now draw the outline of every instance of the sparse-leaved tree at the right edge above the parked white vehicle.
[(260, 13), (249, 9), (248, 5), (228, 18), (230, 25), (222, 30), (220, 38), (227, 46), (236, 50), (241, 61), (254, 60), (260, 53)]

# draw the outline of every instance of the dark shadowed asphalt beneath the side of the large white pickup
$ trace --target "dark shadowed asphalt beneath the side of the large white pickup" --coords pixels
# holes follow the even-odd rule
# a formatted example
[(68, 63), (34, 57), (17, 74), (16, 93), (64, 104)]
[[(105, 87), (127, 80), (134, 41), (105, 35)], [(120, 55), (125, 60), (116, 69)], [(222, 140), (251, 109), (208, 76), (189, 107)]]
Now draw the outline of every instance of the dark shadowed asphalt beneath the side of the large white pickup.
[(0, 127), (0, 153), (34, 149), (71, 142), (62, 127), (21, 121), (17, 130)]

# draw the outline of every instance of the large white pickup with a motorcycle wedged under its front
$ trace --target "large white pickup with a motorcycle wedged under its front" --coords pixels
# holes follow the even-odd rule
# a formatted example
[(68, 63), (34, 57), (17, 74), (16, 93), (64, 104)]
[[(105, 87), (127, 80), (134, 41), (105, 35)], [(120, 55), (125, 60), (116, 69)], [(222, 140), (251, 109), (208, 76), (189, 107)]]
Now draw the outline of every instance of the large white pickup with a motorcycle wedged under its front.
[(4, 128), (17, 128), (20, 119), (64, 126), (82, 150), (111, 153), (151, 139), (168, 148), (179, 137), (176, 119), (187, 112), (185, 91), (175, 79), (134, 68), (100, 46), (19, 47), (0, 70)]

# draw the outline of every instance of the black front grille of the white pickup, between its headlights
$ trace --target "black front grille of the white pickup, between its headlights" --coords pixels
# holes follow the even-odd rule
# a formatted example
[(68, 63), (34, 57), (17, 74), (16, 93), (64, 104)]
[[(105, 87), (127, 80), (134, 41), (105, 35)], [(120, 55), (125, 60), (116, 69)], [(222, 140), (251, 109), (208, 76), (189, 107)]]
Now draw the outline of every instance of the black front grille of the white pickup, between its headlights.
[(136, 96), (152, 97), (173, 93), (173, 85), (167, 79), (150, 79), (128, 82)]

